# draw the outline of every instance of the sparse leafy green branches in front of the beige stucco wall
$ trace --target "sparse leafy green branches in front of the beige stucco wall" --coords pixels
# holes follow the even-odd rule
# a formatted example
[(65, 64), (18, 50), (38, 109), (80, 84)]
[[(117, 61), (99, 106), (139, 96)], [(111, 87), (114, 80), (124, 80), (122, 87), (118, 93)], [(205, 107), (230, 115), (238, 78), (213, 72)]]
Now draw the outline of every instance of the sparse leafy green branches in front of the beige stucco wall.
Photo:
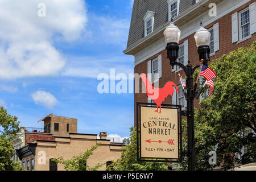
[(83, 154), (81, 153), (78, 156), (73, 156), (72, 159), (64, 160), (63, 156), (59, 158), (52, 159), (56, 164), (63, 164), (64, 169), (67, 171), (96, 171), (98, 168), (102, 167), (104, 164), (97, 164), (95, 167), (89, 167), (86, 164), (88, 158), (93, 155), (93, 151), (100, 146), (100, 143), (92, 146), (90, 150), (86, 150)]

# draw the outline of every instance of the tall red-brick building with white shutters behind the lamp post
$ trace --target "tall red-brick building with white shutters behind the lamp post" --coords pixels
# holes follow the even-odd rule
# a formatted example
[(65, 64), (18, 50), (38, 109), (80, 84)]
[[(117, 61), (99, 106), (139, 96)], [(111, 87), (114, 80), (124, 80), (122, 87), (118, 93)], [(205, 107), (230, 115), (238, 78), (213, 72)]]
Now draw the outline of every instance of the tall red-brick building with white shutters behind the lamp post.
[[(210, 3), (216, 5), (217, 15), (210, 16)], [(171, 68), (166, 52), (163, 31), (173, 19), (181, 30), (179, 58), (177, 61), (187, 65), (188, 60), (195, 66), (199, 64), (194, 35), (200, 28), (200, 21), (211, 33), (210, 60), (239, 47), (250, 46), (256, 39), (255, 1), (250, 0), (134, 0), (127, 48), (123, 51), (134, 56), (134, 73), (151, 73), (150, 80), (159, 81), (162, 88), (168, 81), (174, 81), (180, 88), (178, 73), (185, 77), (179, 67)], [(158, 73), (159, 77), (154, 77)], [(141, 90), (141, 83), (140, 83)], [(200, 97), (194, 101), (199, 107)], [(136, 103), (152, 102), (146, 93), (134, 94), (134, 124), (136, 125)], [(183, 92), (171, 97), (163, 104), (179, 104), (185, 110), (187, 101)]]

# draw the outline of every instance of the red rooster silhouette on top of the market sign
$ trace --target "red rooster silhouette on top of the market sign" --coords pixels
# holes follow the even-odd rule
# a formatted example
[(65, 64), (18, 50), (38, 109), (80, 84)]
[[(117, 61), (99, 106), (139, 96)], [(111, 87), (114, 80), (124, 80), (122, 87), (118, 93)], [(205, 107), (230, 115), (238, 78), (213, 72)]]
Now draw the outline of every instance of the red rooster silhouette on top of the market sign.
[(154, 88), (145, 73), (141, 75), (141, 80), (144, 82), (146, 87), (147, 96), (151, 100), (154, 100), (157, 105), (157, 110), (155, 110), (155, 112), (158, 112), (158, 107), (160, 107), (159, 113), (161, 113), (161, 104), (168, 96), (172, 97), (174, 94), (174, 86), (176, 88), (176, 93), (179, 93), (179, 88), (177, 88), (177, 85), (172, 81), (168, 81), (163, 88)]

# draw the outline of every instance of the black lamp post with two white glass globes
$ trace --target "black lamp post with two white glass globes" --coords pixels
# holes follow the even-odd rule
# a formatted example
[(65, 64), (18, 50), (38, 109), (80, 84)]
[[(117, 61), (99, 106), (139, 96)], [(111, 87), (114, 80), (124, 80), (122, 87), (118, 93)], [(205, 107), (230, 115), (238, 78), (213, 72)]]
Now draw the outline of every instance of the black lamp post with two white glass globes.
[[(194, 136), (194, 105), (193, 101), (195, 99), (196, 87), (197, 84), (193, 86), (193, 73), (200, 65), (196, 65), (196, 67), (192, 68), (192, 65), (188, 61), (188, 65), (183, 65), (179, 62), (176, 62), (178, 51), (179, 51), (179, 39), (180, 39), (180, 30), (177, 26), (175, 26), (174, 22), (166, 28), (164, 31), (164, 37), (166, 39), (166, 50), (167, 57), (170, 60), (170, 64), (172, 68), (174, 65), (178, 65), (182, 68), (187, 75), (186, 88), (187, 88), (187, 123), (188, 123), (188, 170), (195, 170), (195, 136)], [(199, 60), (203, 60), (203, 64), (207, 65), (210, 53), (210, 32), (203, 27), (201, 23), (201, 27), (196, 31), (194, 36), (196, 40), (196, 46), (198, 47), (197, 52), (199, 53)], [(197, 97), (198, 98), (198, 97)]]

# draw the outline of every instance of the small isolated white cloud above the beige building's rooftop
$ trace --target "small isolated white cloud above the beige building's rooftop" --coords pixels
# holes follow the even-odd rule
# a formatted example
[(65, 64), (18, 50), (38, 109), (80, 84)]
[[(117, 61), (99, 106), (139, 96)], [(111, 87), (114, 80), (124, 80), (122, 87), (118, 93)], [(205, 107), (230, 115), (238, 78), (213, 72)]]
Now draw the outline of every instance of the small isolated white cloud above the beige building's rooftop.
[(43, 105), (48, 109), (53, 109), (53, 107), (57, 104), (56, 98), (49, 92), (38, 90), (31, 94), (35, 104)]

